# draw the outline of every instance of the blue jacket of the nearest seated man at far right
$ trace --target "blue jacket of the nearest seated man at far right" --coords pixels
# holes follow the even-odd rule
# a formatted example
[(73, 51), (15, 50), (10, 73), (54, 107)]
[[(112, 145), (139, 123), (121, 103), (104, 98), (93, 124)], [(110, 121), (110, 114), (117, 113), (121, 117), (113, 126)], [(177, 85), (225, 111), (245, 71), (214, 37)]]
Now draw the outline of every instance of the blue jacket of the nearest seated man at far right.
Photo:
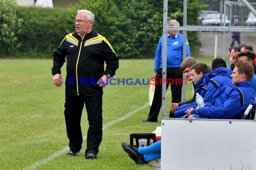
[(194, 118), (209, 119), (241, 119), (249, 104), (255, 104), (251, 81), (242, 81), (235, 86), (225, 86), (219, 89), (205, 107), (198, 109)]

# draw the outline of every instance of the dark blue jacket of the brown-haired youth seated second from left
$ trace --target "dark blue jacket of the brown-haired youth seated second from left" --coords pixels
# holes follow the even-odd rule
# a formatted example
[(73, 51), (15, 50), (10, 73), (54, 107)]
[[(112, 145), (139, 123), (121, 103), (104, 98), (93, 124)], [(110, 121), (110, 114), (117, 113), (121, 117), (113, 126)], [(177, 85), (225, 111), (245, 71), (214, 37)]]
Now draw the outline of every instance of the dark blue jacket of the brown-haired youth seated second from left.
[[(194, 86), (194, 93), (199, 93), (200, 96), (204, 97), (204, 95), (207, 92), (207, 82), (205, 81), (205, 78), (208, 76), (208, 73), (204, 74), (199, 81), (197, 82), (197, 84)], [(194, 99), (195, 101), (195, 99)], [(193, 102), (194, 103), (194, 102)], [(175, 117), (181, 117), (184, 115), (184, 111), (187, 109), (188, 106), (190, 106), (191, 103), (179, 106), (175, 112)], [(180, 110), (183, 110), (183, 113), (180, 112)], [(181, 113), (181, 115), (179, 114)]]

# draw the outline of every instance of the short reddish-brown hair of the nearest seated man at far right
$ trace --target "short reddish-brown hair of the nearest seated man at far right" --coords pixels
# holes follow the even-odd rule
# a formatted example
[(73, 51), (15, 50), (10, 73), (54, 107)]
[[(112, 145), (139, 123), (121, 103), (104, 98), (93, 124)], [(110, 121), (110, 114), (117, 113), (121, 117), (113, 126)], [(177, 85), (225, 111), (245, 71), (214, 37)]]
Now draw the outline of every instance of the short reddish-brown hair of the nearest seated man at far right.
[(237, 62), (235, 64), (235, 67), (237, 68), (237, 71), (239, 73), (244, 73), (246, 75), (247, 80), (252, 81), (254, 68), (251, 63), (247, 61), (241, 61), (241, 62)]

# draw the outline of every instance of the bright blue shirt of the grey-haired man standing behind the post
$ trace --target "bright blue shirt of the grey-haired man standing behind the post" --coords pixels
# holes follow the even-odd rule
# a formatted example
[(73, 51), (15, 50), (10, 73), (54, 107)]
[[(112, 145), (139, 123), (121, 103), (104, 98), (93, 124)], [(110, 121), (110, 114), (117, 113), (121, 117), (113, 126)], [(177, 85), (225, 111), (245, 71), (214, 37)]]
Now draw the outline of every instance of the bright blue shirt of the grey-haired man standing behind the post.
[[(190, 57), (190, 46), (186, 39), (187, 57)], [(167, 68), (180, 67), (183, 60), (183, 34), (178, 33), (175, 37), (167, 33)], [(155, 51), (154, 72), (163, 68), (163, 35), (159, 39)]]

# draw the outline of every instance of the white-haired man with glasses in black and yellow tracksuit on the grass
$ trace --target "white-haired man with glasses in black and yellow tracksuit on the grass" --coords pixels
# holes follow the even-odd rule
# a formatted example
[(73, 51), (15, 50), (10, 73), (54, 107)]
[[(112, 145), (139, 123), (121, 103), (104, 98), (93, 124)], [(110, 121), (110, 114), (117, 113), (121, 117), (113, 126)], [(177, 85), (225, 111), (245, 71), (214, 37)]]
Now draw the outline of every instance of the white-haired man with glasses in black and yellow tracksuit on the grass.
[[(88, 115), (87, 149), (85, 157), (96, 159), (102, 141), (102, 94), (107, 79), (115, 75), (119, 59), (109, 41), (93, 30), (94, 14), (79, 10), (75, 18), (76, 32), (66, 35), (53, 53), (53, 82), (62, 85), (61, 67), (66, 64), (66, 133), (70, 151), (76, 156), (82, 148), (81, 115)], [(104, 62), (106, 69), (104, 70)]]

